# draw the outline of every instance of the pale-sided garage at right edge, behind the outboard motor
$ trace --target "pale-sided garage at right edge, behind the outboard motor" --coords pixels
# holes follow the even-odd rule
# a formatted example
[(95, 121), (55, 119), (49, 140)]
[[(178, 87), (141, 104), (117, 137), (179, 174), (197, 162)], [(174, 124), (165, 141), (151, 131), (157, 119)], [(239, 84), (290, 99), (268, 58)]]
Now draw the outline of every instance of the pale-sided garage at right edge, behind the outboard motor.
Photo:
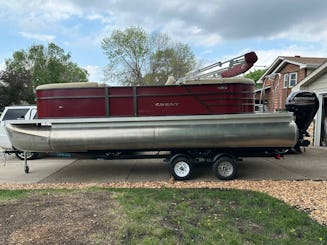
[(315, 92), (320, 106), (314, 121), (313, 145), (327, 147), (327, 62), (293, 87), (292, 91)]

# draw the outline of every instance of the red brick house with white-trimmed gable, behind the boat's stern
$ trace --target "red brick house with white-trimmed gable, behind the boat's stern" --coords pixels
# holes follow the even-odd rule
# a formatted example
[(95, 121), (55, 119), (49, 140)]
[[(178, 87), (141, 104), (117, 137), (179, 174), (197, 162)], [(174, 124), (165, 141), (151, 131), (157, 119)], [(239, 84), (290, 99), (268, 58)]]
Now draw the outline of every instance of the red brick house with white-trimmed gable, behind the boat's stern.
[(256, 104), (268, 111), (284, 110), (292, 88), (326, 61), (327, 58), (279, 56), (257, 81), (263, 87), (256, 90)]

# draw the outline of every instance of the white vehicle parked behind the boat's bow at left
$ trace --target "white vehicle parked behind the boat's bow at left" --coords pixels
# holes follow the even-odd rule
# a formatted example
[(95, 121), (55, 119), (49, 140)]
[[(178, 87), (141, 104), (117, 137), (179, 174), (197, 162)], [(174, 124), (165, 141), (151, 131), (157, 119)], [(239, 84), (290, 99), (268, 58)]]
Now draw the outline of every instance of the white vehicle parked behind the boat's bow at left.
[[(35, 105), (28, 106), (7, 106), (0, 116), (0, 148), (4, 153), (15, 153), (19, 159), (24, 159), (24, 153), (17, 149), (14, 149), (5, 127), (7, 120), (31, 120), (35, 119), (37, 110)], [(29, 152), (27, 153), (27, 159), (31, 160), (36, 158), (38, 153)]]

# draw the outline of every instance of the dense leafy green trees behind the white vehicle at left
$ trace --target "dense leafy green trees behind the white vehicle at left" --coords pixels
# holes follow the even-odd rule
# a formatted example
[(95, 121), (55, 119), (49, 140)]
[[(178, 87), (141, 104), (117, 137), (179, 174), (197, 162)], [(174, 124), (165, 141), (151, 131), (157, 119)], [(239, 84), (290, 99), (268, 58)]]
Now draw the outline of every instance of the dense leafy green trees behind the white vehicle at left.
[(47, 48), (33, 45), (28, 50), (15, 51), (0, 74), (1, 106), (34, 103), (38, 85), (87, 82), (87, 76), (87, 71), (73, 63), (71, 55), (54, 43)]

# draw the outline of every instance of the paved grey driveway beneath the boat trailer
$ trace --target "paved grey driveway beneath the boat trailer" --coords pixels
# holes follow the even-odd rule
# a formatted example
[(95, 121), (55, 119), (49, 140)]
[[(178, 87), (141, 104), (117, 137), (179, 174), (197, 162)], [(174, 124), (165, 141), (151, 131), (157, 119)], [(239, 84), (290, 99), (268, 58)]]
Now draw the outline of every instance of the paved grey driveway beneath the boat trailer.
[[(168, 181), (168, 166), (163, 160), (81, 160), (44, 157), (24, 162), (15, 156), (0, 156), (0, 183), (81, 183)], [(327, 180), (327, 148), (308, 148), (302, 154), (284, 159), (244, 158), (239, 164), (241, 180)], [(196, 168), (195, 181), (219, 181), (211, 167)]]

